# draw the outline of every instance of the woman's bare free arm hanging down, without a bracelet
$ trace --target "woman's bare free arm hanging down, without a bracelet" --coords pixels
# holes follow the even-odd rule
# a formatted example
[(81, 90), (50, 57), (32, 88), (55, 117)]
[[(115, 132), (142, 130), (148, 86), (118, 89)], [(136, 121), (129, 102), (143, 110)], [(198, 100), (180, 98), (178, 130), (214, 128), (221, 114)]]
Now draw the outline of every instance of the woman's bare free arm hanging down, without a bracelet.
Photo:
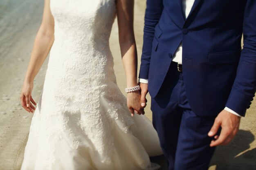
[(50, 11), (50, 0), (45, 0), (43, 20), (36, 35), (29, 66), (25, 75), (25, 80), (20, 94), (22, 107), (28, 112), (35, 110), (31, 102), (36, 105), (31, 97), (34, 78), (45, 61), (54, 41), (54, 19)]

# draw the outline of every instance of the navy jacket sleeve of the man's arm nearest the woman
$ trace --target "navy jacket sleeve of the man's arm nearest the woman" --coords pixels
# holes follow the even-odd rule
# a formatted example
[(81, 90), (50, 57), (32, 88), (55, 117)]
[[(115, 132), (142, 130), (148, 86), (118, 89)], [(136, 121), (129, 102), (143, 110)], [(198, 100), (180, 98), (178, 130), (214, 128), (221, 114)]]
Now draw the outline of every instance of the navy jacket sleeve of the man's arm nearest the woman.
[(144, 38), (139, 78), (148, 79), (148, 71), (152, 50), (152, 42), (157, 25), (163, 11), (163, 0), (147, 0), (145, 13)]

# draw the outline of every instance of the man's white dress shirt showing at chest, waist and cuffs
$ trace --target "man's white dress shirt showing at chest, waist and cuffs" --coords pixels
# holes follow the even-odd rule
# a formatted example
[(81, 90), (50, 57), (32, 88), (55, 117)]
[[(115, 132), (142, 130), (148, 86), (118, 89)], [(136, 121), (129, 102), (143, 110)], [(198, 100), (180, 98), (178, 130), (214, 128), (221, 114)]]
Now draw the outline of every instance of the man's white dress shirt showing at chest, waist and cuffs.
[[(193, 7), (194, 2), (195, 0), (182, 0), (183, 10), (185, 12), (186, 18), (189, 16), (189, 13)], [(178, 47), (175, 54), (173, 55), (173, 62), (182, 64), (182, 43), (180, 43), (180, 46)], [(148, 84), (148, 79), (139, 79), (139, 82)], [(234, 115), (242, 117), (235, 111), (231, 110), (230, 108), (225, 107), (224, 110), (227, 110), (228, 112), (233, 113)]]

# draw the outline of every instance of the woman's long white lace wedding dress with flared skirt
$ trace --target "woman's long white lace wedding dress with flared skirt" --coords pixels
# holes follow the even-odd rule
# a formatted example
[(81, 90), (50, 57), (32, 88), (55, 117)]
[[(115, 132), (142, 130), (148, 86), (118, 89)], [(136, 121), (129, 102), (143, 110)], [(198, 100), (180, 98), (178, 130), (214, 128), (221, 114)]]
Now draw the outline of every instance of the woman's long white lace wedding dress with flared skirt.
[(155, 170), (162, 155), (144, 115), (130, 116), (109, 37), (115, 0), (51, 0), (55, 39), (21, 170)]

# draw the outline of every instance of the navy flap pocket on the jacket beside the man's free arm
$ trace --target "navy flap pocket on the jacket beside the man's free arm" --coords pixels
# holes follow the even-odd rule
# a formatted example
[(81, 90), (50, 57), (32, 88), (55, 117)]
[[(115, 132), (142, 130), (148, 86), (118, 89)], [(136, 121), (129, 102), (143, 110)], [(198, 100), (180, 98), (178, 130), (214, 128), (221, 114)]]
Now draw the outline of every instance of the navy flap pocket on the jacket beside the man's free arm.
[(208, 54), (209, 64), (228, 64), (238, 62), (240, 51), (225, 51)]

